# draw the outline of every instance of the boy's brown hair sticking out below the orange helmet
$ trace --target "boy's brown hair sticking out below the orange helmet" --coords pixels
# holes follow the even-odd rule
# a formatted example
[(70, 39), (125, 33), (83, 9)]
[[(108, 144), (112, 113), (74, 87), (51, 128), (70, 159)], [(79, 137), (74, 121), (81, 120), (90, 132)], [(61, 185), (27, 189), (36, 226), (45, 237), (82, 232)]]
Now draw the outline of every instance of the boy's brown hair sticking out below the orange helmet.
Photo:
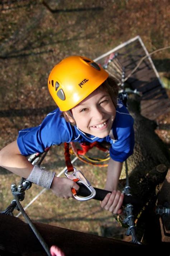
[[(116, 80), (116, 78), (114, 78), (113, 76), (109, 76), (97, 89), (103, 89), (104, 91), (106, 91), (109, 95), (110, 98), (112, 99), (112, 102), (114, 104), (114, 107), (117, 107), (117, 97), (118, 97), (118, 91), (119, 91), (119, 87), (117, 85), (118, 81)], [(96, 89), (96, 90), (97, 90)], [(67, 114), (66, 114), (67, 113)], [(61, 113), (60, 115), (61, 117), (64, 117), (65, 120), (69, 123), (71, 123), (72, 126), (76, 125), (76, 122), (70, 122), (69, 117), (73, 118), (70, 115), (70, 111), (64, 111)]]

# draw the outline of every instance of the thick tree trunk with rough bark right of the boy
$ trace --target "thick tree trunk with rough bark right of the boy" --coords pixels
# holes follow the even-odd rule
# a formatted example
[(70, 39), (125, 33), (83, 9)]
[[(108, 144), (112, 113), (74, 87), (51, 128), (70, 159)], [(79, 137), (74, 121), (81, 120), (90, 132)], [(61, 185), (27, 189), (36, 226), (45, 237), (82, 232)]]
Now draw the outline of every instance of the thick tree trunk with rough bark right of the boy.
[[(137, 96), (131, 96), (128, 109), (134, 118), (135, 131), (134, 152), (127, 160), (129, 182), (133, 195), (143, 198), (164, 181), (170, 166), (170, 155), (155, 133), (156, 122), (141, 116)], [(125, 178), (124, 164), (121, 179)]]

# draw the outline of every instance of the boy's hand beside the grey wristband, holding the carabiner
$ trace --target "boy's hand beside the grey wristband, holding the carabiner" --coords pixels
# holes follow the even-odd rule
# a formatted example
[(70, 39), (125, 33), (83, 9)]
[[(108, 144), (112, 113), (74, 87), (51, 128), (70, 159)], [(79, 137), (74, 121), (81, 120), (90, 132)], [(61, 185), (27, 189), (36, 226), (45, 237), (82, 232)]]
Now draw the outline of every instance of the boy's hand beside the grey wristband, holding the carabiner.
[(67, 179), (67, 178), (58, 178), (54, 177), (52, 184), (51, 184), (51, 189), (52, 192), (57, 196), (57, 197), (62, 197), (62, 198), (69, 198), (73, 197), (71, 189), (75, 188), (75, 190), (79, 190), (79, 185), (77, 185), (74, 181)]

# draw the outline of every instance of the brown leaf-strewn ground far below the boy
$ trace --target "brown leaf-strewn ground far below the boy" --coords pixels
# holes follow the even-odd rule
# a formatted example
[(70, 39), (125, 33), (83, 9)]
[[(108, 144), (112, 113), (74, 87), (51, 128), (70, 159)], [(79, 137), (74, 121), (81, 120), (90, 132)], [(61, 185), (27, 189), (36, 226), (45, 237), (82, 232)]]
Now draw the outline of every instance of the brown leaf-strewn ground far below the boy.
[[(52, 67), (62, 58), (80, 54), (92, 59), (140, 35), (147, 50), (169, 46), (170, 1), (1, 1), (0, 5), (0, 148), (16, 139), (18, 130), (39, 125), (55, 103), (47, 90)], [(170, 96), (170, 50), (152, 55)], [(170, 113), (157, 120), (162, 140), (170, 145)], [(167, 129), (167, 130), (166, 130)], [(94, 152), (95, 153), (95, 152)], [(44, 161), (49, 170), (64, 167), (63, 146), (53, 147)], [(94, 187), (104, 187), (106, 167), (89, 167), (77, 161)], [(10, 184), (19, 178), (4, 169), (0, 174), (0, 209), (11, 201)], [(41, 191), (33, 186), (22, 203), (27, 205)], [(27, 210), (32, 220), (124, 239), (109, 212), (99, 202), (80, 203), (44, 192)], [(17, 214), (17, 213), (15, 213)], [(108, 235), (109, 236), (109, 235)]]

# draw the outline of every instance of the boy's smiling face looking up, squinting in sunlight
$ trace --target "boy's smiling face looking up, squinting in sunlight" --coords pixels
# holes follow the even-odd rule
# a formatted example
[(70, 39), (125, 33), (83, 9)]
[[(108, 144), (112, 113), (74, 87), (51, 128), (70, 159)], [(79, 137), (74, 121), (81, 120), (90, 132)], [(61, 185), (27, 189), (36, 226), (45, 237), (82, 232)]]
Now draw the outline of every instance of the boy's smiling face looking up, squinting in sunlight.
[(72, 108), (77, 127), (84, 133), (98, 138), (109, 135), (115, 114), (116, 110), (110, 95), (100, 87)]

